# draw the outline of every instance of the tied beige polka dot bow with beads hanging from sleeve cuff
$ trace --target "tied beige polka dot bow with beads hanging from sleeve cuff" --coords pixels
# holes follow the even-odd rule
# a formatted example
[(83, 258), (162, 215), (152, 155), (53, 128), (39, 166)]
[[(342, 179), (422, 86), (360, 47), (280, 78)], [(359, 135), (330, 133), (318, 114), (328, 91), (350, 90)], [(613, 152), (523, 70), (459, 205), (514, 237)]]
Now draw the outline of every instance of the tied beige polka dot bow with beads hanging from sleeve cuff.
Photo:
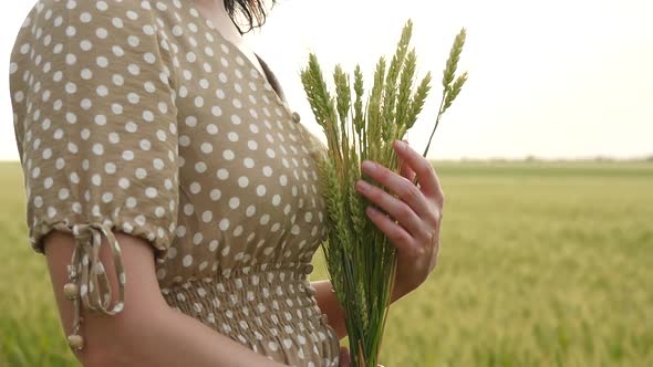
[[(81, 350), (84, 347), (84, 338), (80, 335), (82, 322), (80, 301), (90, 311), (115, 315), (125, 306), (126, 279), (121, 248), (110, 228), (100, 223), (74, 224), (72, 233), (75, 238), (75, 249), (71, 264), (68, 265), (69, 283), (63, 286), (63, 292), (65, 297), (73, 302), (74, 307), (72, 334), (68, 336), (68, 343), (71, 349)], [(104, 265), (100, 261), (102, 234), (106, 237), (111, 245), (118, 281), (120, 300), (111, 310), (111, 285)], [(101, 287), (106, 290), (104, 297), (102, 297)]]

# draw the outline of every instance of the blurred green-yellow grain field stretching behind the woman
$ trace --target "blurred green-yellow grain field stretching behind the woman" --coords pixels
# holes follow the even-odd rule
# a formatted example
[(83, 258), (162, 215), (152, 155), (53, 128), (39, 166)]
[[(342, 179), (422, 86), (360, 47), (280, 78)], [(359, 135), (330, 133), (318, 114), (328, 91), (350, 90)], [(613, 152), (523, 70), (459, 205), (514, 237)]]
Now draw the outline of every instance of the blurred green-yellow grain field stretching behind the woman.
[[(653, 366), (653, 162), (435, 166), (439, 264), (393, 305), (385, 366)], [(0, 188), (0, 366), (74, 366), (18, 164)]]

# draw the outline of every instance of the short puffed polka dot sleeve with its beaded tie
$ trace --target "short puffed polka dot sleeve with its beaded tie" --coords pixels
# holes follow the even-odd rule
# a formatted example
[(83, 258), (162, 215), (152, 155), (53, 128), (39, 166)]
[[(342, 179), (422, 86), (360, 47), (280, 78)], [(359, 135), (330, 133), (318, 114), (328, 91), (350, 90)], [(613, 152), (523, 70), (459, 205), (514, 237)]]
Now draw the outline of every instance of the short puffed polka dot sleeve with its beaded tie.
[[(80, 307), (120, 313), (128, 274), (113, 231), (146, 240), (163, 261), (178, 207), (173, 57), (148, 1), (39, 1), (10, 62), (14, 132), (32, 248), (52, 230), (75, 250), (62, 292), (74, 304), (71, 348), (83, 346)], [(99, 252), (111, 247), (120, 286)]]

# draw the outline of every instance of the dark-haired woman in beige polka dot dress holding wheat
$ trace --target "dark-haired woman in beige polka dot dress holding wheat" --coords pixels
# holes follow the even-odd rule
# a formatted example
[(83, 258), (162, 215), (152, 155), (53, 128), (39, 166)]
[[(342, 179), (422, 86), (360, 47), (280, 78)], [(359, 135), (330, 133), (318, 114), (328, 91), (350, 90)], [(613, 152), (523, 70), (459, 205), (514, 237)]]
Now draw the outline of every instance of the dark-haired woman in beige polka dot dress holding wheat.
[[(41, 0), (18, 34), (29, 239), (85, 366), (346, 364), (331, 284), (308, 280), (324, 146), (237, 14), (265, 20), (259, 0)], [(398, 249), (393, 301), (435, 266), (444, 200), (432, 166), (396, 150), (404, 177), (363, 170), (402, 199), (356, 185), (400, 219), (369, 212)]]

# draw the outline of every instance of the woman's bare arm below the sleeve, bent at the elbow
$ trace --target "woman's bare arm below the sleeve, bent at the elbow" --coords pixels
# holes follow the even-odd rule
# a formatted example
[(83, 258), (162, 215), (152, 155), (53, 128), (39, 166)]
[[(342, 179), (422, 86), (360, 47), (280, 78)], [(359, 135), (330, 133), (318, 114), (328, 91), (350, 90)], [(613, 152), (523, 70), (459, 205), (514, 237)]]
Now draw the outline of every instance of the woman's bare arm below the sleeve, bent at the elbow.
[[(153, 248), (124, 233), (116, 232), (115, 237), (129, 281), (125, 287), (125, 308), (106, 316), (82, 307), (81, 334), (85, 345), (75, 356), (84, 366), (282, 366), (170, 308), (158, 289)], [(44, 239), (63, 325), (71, 325), (73, 317), (71, 301), (63, 294), (73, 243), (71, 234), (60, 231), (52, 231)], [(116, 295), (118, 286), (108, 245), (101, 247), (100, 259), (105, 265), (112, 295)], [(71, 334), (71, 331), (64, 332)]]

